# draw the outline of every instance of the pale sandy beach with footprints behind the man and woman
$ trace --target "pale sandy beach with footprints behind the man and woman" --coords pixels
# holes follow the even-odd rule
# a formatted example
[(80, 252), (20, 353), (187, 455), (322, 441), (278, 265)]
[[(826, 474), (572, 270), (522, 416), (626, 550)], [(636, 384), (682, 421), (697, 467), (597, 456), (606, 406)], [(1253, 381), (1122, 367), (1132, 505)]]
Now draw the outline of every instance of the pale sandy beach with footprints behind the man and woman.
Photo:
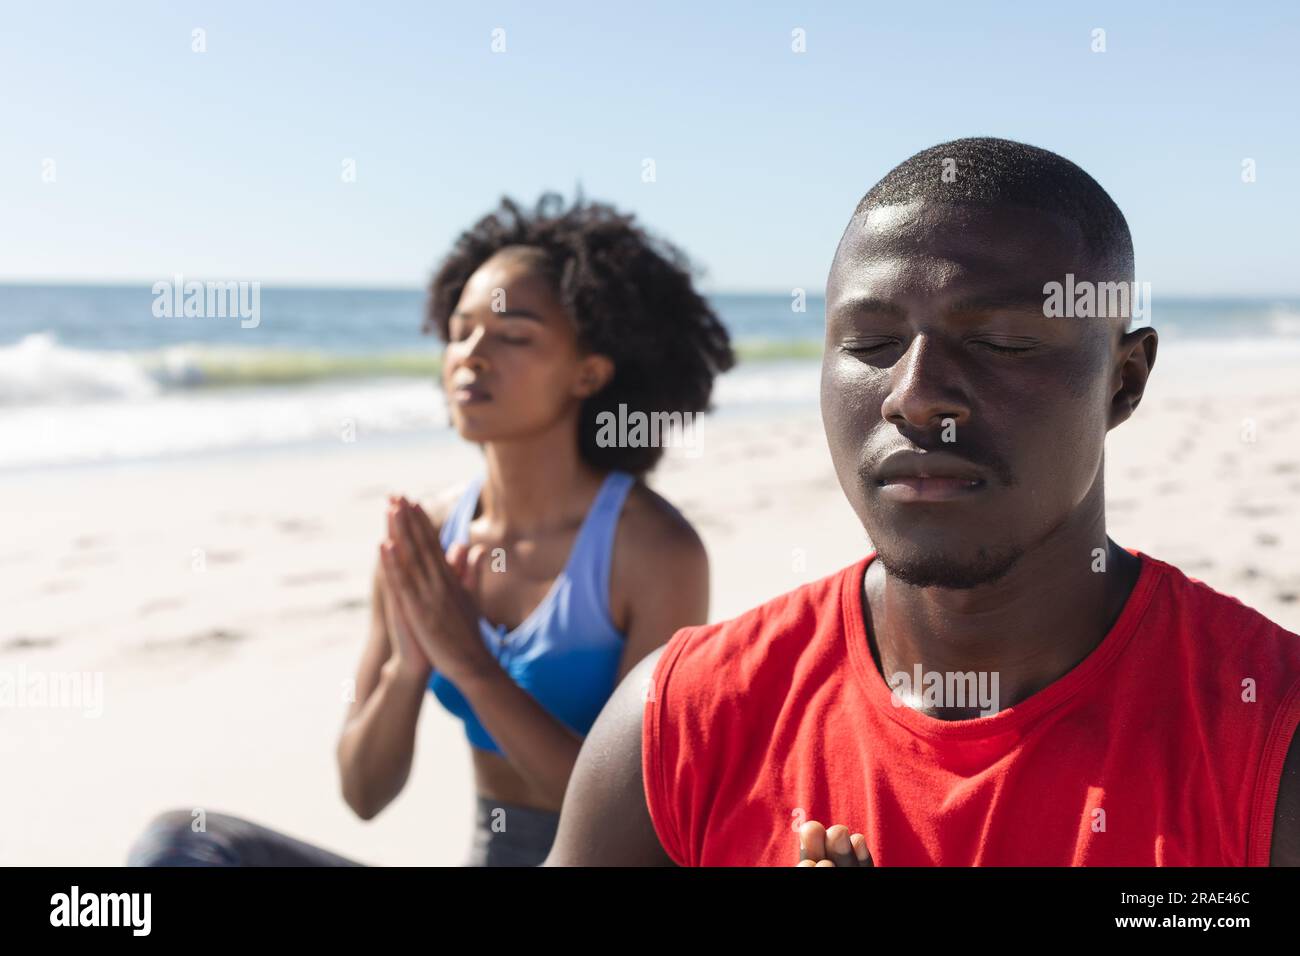
[[(1300, 631), (1300, 382), (1284, 364), (1199, 356), (1162, 352), (1112, 433), (1109, 532)], [(815, 405), (706, 421), (702, 445), (651, 484), (705, 538), (714, 619), (870, 549)], [(411, 780), (368, 823), (339, 796), (334, 744), (385, 496), (430, 496), (478, 462), (459, 442), (361, 436), (0, 476), (0, 671), (103, 679), (98, 715), (0, 708), (0, 864), (121, 864), (168, 808), (369, 864), (460, 862), (473, 795), (454, 718), (428, 700)]]

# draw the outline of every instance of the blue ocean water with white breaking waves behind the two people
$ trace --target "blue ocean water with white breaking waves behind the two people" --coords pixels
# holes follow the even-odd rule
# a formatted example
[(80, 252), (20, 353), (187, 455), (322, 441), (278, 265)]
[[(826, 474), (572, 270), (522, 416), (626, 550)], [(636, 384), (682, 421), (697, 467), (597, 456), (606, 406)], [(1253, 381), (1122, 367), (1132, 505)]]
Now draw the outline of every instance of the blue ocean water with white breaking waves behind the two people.
[[(815, 406), (824, 302), (711, 297), (740, 354), (719, 414)], [(0, 285), (0, 471), (447, 432), (416, 290), (260, 290), (238, 316), (160, 317), (148, 285)], [(1161, 347), (1300, 359), (1297, 299), (1157, 299)]]

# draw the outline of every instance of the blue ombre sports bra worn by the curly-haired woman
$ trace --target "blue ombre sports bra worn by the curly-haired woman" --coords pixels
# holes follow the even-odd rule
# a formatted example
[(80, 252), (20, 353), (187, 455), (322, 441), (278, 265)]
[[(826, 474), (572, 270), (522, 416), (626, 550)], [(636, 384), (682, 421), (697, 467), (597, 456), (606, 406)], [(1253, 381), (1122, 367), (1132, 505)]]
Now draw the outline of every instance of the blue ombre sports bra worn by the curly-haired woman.
[[(456, 542), (468, 544), (482, 483), (482, 475), (471, 481), (443, 522), (443, 550)], [(614, 693), (623, 659), (624, 635), (610, 618), (610, 558), (619, 514), (634, 483), (633, 475), (621, 471), (606, 476), (573, 540), (568, 562), (519, 627), (507, 631), (504, 624), (493, 626), (478, 618), (484, 644), (515, 683), (582, 736)], [(429, 689), (464, 721), (471, 744), (500, 753), (455, 684), (434, 671)]]

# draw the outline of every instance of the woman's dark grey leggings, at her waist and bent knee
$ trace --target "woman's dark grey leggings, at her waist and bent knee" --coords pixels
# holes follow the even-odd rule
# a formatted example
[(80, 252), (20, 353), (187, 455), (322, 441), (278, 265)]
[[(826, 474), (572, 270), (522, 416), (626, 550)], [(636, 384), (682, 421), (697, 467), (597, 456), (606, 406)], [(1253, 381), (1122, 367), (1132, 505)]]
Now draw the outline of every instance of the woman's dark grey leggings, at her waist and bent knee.
[[(478, 797), (465, 866), (537, 866), (555, 840), (559, 814)], [(156, 817), (130, 849), (127, 866), (364, 866), (328, 849), (225, 813)]]

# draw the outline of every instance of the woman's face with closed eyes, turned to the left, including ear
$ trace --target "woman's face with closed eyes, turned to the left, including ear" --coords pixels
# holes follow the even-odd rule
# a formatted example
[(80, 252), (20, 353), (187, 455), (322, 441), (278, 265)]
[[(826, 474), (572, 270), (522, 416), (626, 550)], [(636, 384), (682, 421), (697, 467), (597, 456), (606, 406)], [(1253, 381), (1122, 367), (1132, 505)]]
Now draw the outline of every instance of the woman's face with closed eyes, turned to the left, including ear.
[(502, 250), (469, 277), (451, 313), (442, 386), (467, 441), (572, 425), (582, 399), (612, 375), (610, 359), (581, 354), (573, 323), (534, 261), (526, 250)]

